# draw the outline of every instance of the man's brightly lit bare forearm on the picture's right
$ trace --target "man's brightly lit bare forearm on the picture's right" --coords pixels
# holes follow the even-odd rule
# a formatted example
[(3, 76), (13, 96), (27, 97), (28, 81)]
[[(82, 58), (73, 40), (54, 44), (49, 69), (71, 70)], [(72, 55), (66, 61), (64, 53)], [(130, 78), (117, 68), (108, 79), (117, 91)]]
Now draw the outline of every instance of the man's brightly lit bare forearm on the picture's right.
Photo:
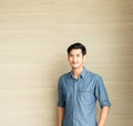
[(109, 106), (104, 106), (102, 108), (100, 119), (99, 119), (99, 126), (104, 126), (105, 125), (105, 120), (108, 118), (109, 109), (110, 109)]

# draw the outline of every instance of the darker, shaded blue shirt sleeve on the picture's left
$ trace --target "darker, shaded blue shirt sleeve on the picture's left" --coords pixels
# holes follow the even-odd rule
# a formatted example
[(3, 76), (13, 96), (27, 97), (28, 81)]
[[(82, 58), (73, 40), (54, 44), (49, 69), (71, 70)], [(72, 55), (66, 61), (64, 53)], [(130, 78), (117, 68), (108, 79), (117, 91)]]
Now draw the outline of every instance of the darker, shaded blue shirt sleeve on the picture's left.
[(59, 78), (59, 83), (58, 83), (58, 106), (64, 107), (65, 106), (65, 102), (64, 102), (64, 95), (63, 95), (63, 83), (62, 83), (62, 78)]

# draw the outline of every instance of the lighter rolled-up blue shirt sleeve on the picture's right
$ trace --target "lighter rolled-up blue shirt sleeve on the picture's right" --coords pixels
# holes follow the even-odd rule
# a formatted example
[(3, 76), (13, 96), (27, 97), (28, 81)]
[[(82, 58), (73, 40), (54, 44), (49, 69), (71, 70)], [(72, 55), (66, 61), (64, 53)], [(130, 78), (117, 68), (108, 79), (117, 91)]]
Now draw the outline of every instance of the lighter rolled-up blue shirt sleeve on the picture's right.
[(99, 101), (101, 108), (103, 106), (111, 106), (106, 88), (100, 75), (96, 76), (95, 97)]

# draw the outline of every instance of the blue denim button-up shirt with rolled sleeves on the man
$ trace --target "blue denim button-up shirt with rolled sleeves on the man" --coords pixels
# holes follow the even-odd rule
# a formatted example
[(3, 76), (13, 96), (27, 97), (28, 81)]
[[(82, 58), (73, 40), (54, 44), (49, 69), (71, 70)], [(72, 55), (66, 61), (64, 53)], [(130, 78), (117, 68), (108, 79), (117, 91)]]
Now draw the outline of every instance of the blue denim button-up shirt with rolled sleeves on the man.
[(75, 80), (72, 72), (62, 75), (58, 86), (58, 106), (64, 107), (62, 126), (98, 126), (95, 103), (111, 106), (103, 80), (84, 69)]

